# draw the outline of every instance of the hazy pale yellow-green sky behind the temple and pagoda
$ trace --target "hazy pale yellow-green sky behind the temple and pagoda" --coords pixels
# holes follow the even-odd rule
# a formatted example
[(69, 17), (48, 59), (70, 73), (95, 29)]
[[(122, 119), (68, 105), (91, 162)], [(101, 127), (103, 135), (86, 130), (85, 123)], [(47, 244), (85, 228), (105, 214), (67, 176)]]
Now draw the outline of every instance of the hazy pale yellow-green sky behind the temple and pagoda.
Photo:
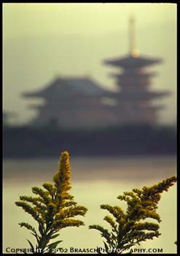
[[(141, 54), (164, 59), (152, 89), (169, 90), (160, 121), (176, 120), (176, 4), (3, 4), (4, 110), (29, 121), (33, 100), (23, 91), (45, 86), (55, 75), (90, 75), (114, 87), (103, 59), (128, 53), (128, 19), (136, 18)], [(160, 102), (158, 102), (159, 104)]]

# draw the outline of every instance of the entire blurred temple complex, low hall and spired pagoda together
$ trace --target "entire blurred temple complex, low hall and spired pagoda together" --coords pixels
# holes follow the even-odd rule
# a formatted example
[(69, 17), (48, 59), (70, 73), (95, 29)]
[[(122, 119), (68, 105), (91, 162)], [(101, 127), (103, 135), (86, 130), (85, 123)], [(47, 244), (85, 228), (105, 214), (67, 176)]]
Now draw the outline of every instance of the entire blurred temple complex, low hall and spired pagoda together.
[(103, 89), (88, 77), (58, 77), (44, 89), (27, 92), (23, 97), (44, 99), (36, 108), (34, 126), (53, 125), (66, 129), (98, 128), (123, 124), (156, 124), (158, 112), (163, 105), (154, 105), (152, 100), (168, 96), (168, 91), (151, 91), (151, 78), (155, 72), (146, 72), (146, 67), (160, 64), (162, 59), (141, 56), (135, 48), (135, 23), (130, 18), (130, 49), (126, 56), (103, 61), (119, 69), (111, 74), (120, 91)]

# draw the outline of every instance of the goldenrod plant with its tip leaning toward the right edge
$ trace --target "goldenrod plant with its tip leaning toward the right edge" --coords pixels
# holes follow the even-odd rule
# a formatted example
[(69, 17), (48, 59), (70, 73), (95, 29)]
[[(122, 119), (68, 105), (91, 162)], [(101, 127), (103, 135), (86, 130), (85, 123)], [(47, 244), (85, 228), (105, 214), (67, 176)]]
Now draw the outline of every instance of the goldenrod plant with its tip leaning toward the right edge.
[[(107, 253), (121, 254), (126, 249), (130, 252), (131, 246), (161, 235), (157, 224), (161, 222), (160, 215), (157, 214), (157, 203), (161, 194), (168, 191), (175, 182), (176, 176), (173, 176), (152, 187), (124, 192), (117, 199), (127, 203), (126, 211), (120, 206), (101, 205), (101, 209), (112, 215), (104, 217), (111, 226), (111, 231), (101, 225), (90, 225), (89, 228), (100, 231)], [(154, 222), (149, 222), (149, 219), (154, 219)]]

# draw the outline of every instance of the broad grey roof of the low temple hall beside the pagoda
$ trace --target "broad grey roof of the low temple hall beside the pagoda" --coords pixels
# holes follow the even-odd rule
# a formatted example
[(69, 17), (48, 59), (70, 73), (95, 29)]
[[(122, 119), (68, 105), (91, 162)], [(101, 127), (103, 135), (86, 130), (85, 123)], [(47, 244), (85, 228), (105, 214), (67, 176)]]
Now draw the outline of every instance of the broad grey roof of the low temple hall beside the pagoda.
[(56, 95), (70, 96), (70, 95), (87, 95), (90, 96), (104, 96), (111, 94), (111, 91), (103, 89), (91, 78), (83, 77), (68, 77), (57, 78), (47, 86), (38, 91), (23, 93), (23, 97), (55, 97)]

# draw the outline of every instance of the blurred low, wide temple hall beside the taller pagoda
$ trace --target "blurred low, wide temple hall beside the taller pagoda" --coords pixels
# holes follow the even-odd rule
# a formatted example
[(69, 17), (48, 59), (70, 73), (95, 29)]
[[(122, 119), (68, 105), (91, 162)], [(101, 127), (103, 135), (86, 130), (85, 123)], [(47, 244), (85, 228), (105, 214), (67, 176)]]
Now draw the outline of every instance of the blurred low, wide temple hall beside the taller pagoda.
[(103, 89), (91, 78), (58, 77), (44, 89), (24, 93), (23, 97), (44, 99), (37, 110), (34, 126), (58, 126), (68, 129), (109, 127), (116, 124), (114, 93)]

